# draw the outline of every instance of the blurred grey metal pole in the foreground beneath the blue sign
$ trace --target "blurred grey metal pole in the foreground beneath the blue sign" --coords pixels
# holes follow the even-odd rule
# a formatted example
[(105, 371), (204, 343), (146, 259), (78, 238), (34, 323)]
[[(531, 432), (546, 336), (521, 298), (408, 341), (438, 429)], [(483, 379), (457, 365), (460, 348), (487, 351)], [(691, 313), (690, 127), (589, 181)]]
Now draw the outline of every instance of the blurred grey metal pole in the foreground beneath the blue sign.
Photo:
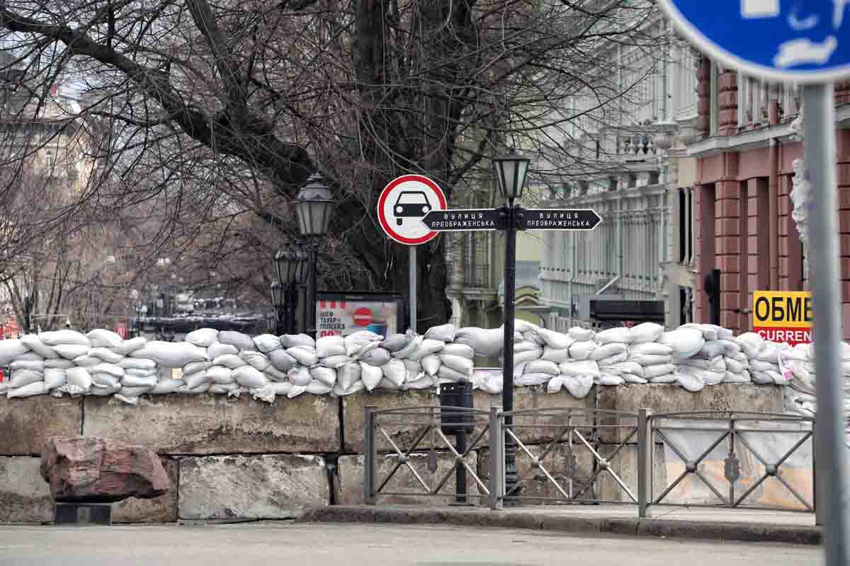
[(850, 531), (847, 530), (847, 447), (844, 444), (844, 391), (839, 363), (842, 339), (841, 289), (839, 288), (838, 199), (836, 194), (836, 109), (834, 86), (803, 87), (806, 148), (806, 180), (813, 198), (809, 235), (814, 305), (814, 364), (818, 379), (818, 485), (825, 503), (824, 536), (827, 566), (850, 563)]

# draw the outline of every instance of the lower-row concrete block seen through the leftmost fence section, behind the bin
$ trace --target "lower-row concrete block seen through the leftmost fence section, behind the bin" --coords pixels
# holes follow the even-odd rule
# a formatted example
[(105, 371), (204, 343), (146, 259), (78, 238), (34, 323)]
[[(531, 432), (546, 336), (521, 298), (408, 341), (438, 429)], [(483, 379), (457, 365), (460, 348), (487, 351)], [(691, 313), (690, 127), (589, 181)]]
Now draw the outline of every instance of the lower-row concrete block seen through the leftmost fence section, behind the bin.
[[(378, 464), (378, 473), (376, 485), (386, 479), (390, 472), (393, 471), (397, 460), (392, 455), (381, 455), (380, 463)], [(410, 455), (408, 462), (416, 469), (416, 473), (422, 478), (428, 487), (433, 487), (438, 484), (445, 474), (449, 474), (455, 469), (455, 460), (449, 452), (437, 452), (437, 471), (431, 473), (428, 469), (428, 452), (417, 452)], [(479, 469), (479, 460), (476, 452), (470, 452), (466, 458), (467, 463), (473, 470)], [(341, 505), (361, 505), (363, 504), (363, 456), (341, 456), (339, 457), (339, 491), (337, 493), (337, 502)], [(377, 502), (382, 505), (447, 505), (455, 501), (455, 473), (451, 472), (449, 479), (445, 481), (439, 493), (448, 494), (446, 496), (427, 496), (419, 495), (425, 493), (425, 488), (416, 479), (405, 465), (402, 465), (386, 487), (382, 489), (384, 492), (394, 493), (410, 493), (410, 496), (380, 496)], [(467, 470), (467, 494), (476, 495), (482, 493), (479, 491), (478, 484), (473, 479), (473, 475)], [(468, 502), (473, 504), (482, 501), (479, 497), (470, 497)]]

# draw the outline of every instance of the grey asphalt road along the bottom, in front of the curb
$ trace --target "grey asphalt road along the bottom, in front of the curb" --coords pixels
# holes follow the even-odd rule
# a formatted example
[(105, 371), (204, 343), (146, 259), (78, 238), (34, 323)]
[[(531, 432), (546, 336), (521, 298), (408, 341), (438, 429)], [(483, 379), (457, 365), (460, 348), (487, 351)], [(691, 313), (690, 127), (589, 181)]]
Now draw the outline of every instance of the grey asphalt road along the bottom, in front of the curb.
[(3, 566), (781, 566), (819, 563), (820, 554), (816, 546), (589, 538), (530, 530), (412, 525), (0, 527)]

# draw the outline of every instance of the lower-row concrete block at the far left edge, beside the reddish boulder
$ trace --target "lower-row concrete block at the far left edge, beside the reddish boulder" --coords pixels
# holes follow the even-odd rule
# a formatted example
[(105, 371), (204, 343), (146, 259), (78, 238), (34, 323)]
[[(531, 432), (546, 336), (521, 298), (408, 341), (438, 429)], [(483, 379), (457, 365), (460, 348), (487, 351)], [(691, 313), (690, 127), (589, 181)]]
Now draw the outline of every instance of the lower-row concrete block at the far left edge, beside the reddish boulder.
[(0, 523), (53, 521), (53, 495), (40, 464), (41, 458), (0, 457)]

